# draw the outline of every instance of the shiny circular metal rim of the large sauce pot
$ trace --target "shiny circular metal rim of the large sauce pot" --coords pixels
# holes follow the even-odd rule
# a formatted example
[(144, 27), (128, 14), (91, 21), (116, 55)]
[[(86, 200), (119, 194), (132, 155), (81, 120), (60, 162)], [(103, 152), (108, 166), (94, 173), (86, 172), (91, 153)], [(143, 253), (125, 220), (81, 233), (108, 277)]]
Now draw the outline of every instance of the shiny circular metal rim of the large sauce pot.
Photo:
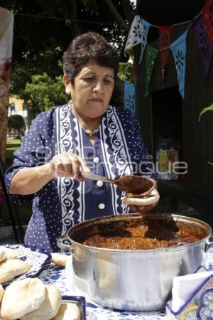
[[(120, 220), (121, 218), (137, 218), (137, 217), (140, 217), (140, 216), (150, 216), (151, 218), (168, 218), (169, 216), (170, 217), (173, 217), (174, 219), (176, 219), (175, 221), (178, 221), (178, 220), (185, 220), (187, 222), (187, 220), (189, 220), (188, 222), (190, 223), (197, 223), (197, 224), (200, 224), (202, 225), (203, 228), (207, 228), (207, 236), (202, 238), (202, 239), (199, 239), (195, 242), (188, 242), (188, 243), (184, 243), (184, 244), (179, 244), (179, 245), (176, 245), (176, 246), (173, 246), (173, 247), (160, 247), (160, 248), (153, 248), (153, 249), (135, 249), (135, 250), (131, 250), (131, 249), (111, 249), (111, 248), (107, 248), (107, 247), (92, 247), (92, 246), (89, 246), (89, 245), (84, 245), (80, 242), (77, 242), (75, 240), (72, 240), (72, 238), (70, 238), (70, 235), (69, 233), (72, 232), (72, 230), (75, 230), (75, 228), (80, 228), (79, 226), (84, 226), (84, 225), (87, 225), (91, 222), (101, 222), (103, 220)], [(114, 219), (113, 219), (114, 218)], [(104, 217), (99, 217), (99, 218), (93, 218), (93, 219), (90, 219), (90, 220), (86, 220), (82, 223), (78, 223), (77, 225), (74, 225), (72, 226), (70, 229), (67, 230), (67, 238), (70, 240), (70, 242), (72, 243), (72, 246), (73, 245), (77, 245), (79, 247), (82, 247), (84, 249), (87, 249), (89, 251), (98, 251), (98, 252), (102, 252), (102, 253), (111, 253), (111, 252), (116, 252), (117, 254), (127, 254), (127, 253), (131, 253), (132, 254), (138, 254), (138, 253), (143, 253), (143, 254), (150, 254), (150, 253), (153, 253), (153, 254), (158, 254), (158, 253), (165, 253), (165, 252), (171, 252), (171, 251), (180, 251), (180, 250), (185, 250), (186, 248), (188, 247), (195, 247), (196, 245), (200, 245), (202, 242), (204, 242), (204, 244), (207, 243), (207, 241), (209, 240), (210, 236), (212, 235), (212, 228), (210, 225), (208, 225), (207, 223), (205, 223), (204, 221), (202, 220), (199, 220), (197, 218), (191, 218), (191, 217), (187, 217), (185, 215), (175, 215), (175, 214), (170, 214), (170, 213), (131, 213), (129, 215), (107, 215), (107, 216), (104, 216)]]

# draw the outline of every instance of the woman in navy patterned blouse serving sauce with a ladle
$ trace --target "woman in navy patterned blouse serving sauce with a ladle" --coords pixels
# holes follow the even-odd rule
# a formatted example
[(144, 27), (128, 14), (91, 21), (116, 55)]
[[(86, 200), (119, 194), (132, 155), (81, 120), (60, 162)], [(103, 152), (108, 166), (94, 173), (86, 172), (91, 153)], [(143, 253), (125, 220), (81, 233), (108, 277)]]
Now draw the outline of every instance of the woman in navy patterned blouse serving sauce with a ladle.
[(143, 164), (147, 151), (138, 122), (109, 105), (118, 67), (116, 50), (97, 33), (78, 36), (65, 51), (63, 80), (72, 101), (38, 115), (6, 173), (13, 198), (33, 200), (26, 244), (59, 251), (56, 239), (75, 223), (132, 212), (118, 187), (84, 180), (80, 169), (110, 178), (147, 174), (155, 183)]

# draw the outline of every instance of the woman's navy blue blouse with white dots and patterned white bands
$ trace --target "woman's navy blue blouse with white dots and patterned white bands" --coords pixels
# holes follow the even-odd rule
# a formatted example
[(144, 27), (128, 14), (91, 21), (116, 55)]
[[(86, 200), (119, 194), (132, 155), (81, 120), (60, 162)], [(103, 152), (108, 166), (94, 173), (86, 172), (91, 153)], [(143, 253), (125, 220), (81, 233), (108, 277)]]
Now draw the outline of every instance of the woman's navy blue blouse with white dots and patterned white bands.
[[(141, 139), (138, 121), (128, 110), (109, 106), (99, 126), (94, 146), (89, 141), (69, 104), (41, 112), (31, 124), (13, 166), (6, 171), (6, 185), (24, 167), (47, 163), (55, 154), (74, 152), (87, 161), (94, 174), (119, 178), (125, 174), (143, 174), (156, 178), (148, 169), (147, 151)], [(122, 191), (110, 183), (85, 179), (53, 178), (37, 193), (12, 195), (18, 203), (33, 201), (33, 214), (25, 242), (48, 251), (60, 251), (57, 238), (76, 223), (104, 215), (131, 212), (121, 202)]]

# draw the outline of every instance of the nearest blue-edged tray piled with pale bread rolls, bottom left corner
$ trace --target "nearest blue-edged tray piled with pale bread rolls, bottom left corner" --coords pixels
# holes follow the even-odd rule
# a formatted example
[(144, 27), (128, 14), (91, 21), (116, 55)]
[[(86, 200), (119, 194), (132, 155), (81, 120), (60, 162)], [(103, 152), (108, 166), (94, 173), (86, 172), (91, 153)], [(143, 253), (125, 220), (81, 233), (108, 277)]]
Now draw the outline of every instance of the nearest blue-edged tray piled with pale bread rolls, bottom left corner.
[(53, 284), (38, 278), (0, 284), (0, 319), (2, 320), (85, 320), (84, 297), (62, 296)]

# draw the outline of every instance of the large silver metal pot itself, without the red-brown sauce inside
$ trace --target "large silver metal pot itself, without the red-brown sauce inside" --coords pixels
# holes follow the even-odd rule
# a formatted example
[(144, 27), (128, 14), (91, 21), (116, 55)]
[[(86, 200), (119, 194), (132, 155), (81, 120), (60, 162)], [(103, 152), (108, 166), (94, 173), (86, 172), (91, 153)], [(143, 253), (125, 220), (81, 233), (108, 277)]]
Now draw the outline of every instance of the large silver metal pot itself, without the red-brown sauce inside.
[[(189, 226), (202, 239), (176, 247), (151, 250), (112, 250), (80, 243), (91, 235), (121, 230), (129, 223), (161, 220)], [(208, 249), (212, 229), (207, 223), (181, 215), (134, 213), (111, 215), (79, 223), (58, 238), (58, 246), (72, 250), (75, 285), (102, 306), (124, 310), (154, 311), (170, 299), (173, 277), (190, 274), (200, 265), (209, 266)], [(70, 240), (72, 245), (65, 245)], [(71, 270), (70, 270), (71, 272)]]

